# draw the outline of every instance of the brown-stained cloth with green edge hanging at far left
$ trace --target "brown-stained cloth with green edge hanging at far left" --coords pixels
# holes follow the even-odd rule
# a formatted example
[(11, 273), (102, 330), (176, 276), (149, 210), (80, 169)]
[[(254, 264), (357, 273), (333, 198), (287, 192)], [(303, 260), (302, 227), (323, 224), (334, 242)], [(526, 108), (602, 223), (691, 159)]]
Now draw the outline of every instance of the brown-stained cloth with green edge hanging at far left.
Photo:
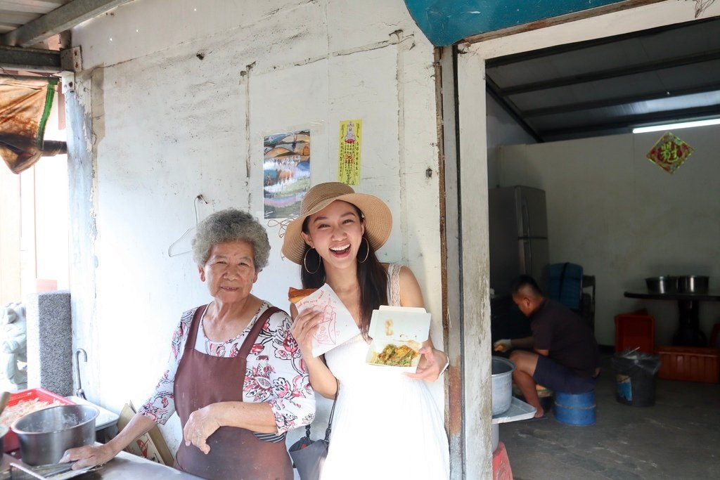
[(42, 156), (58, 78), (0, 77), (0, 156), (13, 173)]

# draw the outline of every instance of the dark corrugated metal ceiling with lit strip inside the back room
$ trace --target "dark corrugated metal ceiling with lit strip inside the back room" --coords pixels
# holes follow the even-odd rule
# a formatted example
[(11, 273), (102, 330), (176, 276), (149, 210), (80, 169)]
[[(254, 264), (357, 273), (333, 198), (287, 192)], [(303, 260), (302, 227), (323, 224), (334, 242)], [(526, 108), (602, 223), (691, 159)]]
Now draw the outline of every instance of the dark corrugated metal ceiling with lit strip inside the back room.
[(488, 91), (539, 141), (720, 116), (720, 19), (488, 60)]

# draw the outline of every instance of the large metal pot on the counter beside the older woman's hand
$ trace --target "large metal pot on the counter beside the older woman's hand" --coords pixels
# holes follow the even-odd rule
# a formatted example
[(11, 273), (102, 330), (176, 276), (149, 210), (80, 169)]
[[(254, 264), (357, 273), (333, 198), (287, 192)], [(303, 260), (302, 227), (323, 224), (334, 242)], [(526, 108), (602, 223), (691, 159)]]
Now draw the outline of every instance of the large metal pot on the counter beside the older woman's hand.
[(58, 463), (68, 448), (95, 442), (98, 410), (89, 405), (62, 405), (32, 412), (15, 420), (12, 430), (28, 465)]

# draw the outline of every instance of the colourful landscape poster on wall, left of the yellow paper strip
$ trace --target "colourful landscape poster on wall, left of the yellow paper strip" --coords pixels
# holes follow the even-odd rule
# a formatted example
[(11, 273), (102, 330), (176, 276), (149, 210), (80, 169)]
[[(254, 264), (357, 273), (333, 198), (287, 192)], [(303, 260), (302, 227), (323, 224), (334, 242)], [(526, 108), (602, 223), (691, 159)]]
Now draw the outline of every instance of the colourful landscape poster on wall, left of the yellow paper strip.
[(267, 135), (263, 149), (265, 218), (297, 217), (310, 189), (310, 130)]

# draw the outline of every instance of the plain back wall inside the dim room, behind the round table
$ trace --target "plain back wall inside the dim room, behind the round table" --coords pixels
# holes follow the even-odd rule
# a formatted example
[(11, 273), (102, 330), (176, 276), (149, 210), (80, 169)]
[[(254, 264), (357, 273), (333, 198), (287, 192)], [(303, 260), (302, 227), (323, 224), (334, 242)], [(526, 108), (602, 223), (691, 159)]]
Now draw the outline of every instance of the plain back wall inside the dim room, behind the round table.
[[(644, 279), (708, 275), (720, 289), (720, 127), (674, 132), (695, 151), (672, 175), (645, 158), (663, 132), (500, 148), (500, 183), (546, 191), (550, 261), (595, 275), (595, 335), (613, 345), (616, 314), (647, 308), (656, 345), (678, 325), (675, 302), (628, 299)], [(720, 302), (700, 306), (709, 336)]]

